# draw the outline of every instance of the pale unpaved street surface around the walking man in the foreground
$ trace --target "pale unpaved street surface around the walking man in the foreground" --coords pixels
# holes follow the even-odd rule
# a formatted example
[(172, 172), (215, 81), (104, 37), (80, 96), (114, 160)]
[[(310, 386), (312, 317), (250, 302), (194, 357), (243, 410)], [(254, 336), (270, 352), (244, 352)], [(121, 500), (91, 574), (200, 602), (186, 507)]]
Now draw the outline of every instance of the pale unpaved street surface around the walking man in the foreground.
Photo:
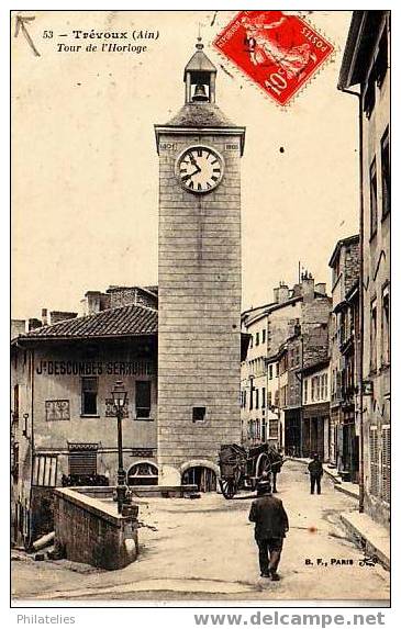
[(339, 521), (339, 514), (356, 509), (357, 502), (335, 491), (327, 476), (322, 495), (311, 496), (305, 467), (292, 461), (283, 465), (278, 488), (290, 519), (278, 583), (259, 577), (253, 525), (247, 520), (250, 499), (204, 494), (194, 501), (142, 499), (141, 554), (121, 571), (35, 562), (15, 553), (14, 598), (388, 599), (389, 573), (380, 565), (359, 565), (364, 553)]

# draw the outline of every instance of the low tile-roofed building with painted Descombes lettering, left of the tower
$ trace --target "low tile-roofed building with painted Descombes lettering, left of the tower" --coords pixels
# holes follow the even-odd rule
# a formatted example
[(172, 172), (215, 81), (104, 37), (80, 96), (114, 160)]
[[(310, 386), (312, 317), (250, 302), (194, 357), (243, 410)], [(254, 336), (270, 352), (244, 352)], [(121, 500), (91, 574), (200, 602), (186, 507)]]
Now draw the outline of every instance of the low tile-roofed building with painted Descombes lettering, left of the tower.
[(111, 392), (116, 380), (127, 392), (123, 417), (127, 483), (155, 484), (157, 311), (127, 305), (42, 326), (12, 340), (11, 491), (16, 543), (29, 547), (53, 526), (53, 487), (115, 483)]

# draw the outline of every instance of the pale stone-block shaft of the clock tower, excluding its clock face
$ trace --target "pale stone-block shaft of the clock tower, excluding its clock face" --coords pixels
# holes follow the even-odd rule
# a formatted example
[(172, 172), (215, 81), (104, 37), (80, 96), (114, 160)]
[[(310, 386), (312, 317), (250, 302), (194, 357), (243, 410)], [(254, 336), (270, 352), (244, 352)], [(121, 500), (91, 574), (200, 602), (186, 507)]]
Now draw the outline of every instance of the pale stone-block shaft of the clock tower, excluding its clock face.
[[(225, 160), (205, 195), (175, 175), (177, 156), (198, 143)], [(186, 461), (215, 463), (221, 443), (241, 439), (240, 136), (161, 134), (159, 155), (159, 482), (177, 484)], [(204, 420), (192, 420), (193, 407)]]

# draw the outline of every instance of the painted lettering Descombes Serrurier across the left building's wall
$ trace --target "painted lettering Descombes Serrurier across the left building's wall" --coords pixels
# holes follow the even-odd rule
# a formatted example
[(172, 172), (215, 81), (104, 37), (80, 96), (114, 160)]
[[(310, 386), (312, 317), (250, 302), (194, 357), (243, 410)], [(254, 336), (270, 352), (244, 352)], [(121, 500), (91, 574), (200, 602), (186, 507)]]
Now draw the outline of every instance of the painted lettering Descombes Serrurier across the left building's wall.
[(41, 360), (37, 375), (152, 375), (149, 362), (83, 361), (83, 360)]

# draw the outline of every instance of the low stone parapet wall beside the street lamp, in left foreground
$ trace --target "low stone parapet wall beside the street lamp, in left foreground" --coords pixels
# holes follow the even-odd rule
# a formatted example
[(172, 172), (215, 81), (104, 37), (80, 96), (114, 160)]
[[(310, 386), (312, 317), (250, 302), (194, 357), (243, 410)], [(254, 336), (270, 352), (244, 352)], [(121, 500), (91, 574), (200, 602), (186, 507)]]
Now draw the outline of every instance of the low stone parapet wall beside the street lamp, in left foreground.
[(114, 503), (74, 490), (55, 490), (56, 548), (70, 561), (119, 570), (138, 552), (137, 519), (116, 514)]

